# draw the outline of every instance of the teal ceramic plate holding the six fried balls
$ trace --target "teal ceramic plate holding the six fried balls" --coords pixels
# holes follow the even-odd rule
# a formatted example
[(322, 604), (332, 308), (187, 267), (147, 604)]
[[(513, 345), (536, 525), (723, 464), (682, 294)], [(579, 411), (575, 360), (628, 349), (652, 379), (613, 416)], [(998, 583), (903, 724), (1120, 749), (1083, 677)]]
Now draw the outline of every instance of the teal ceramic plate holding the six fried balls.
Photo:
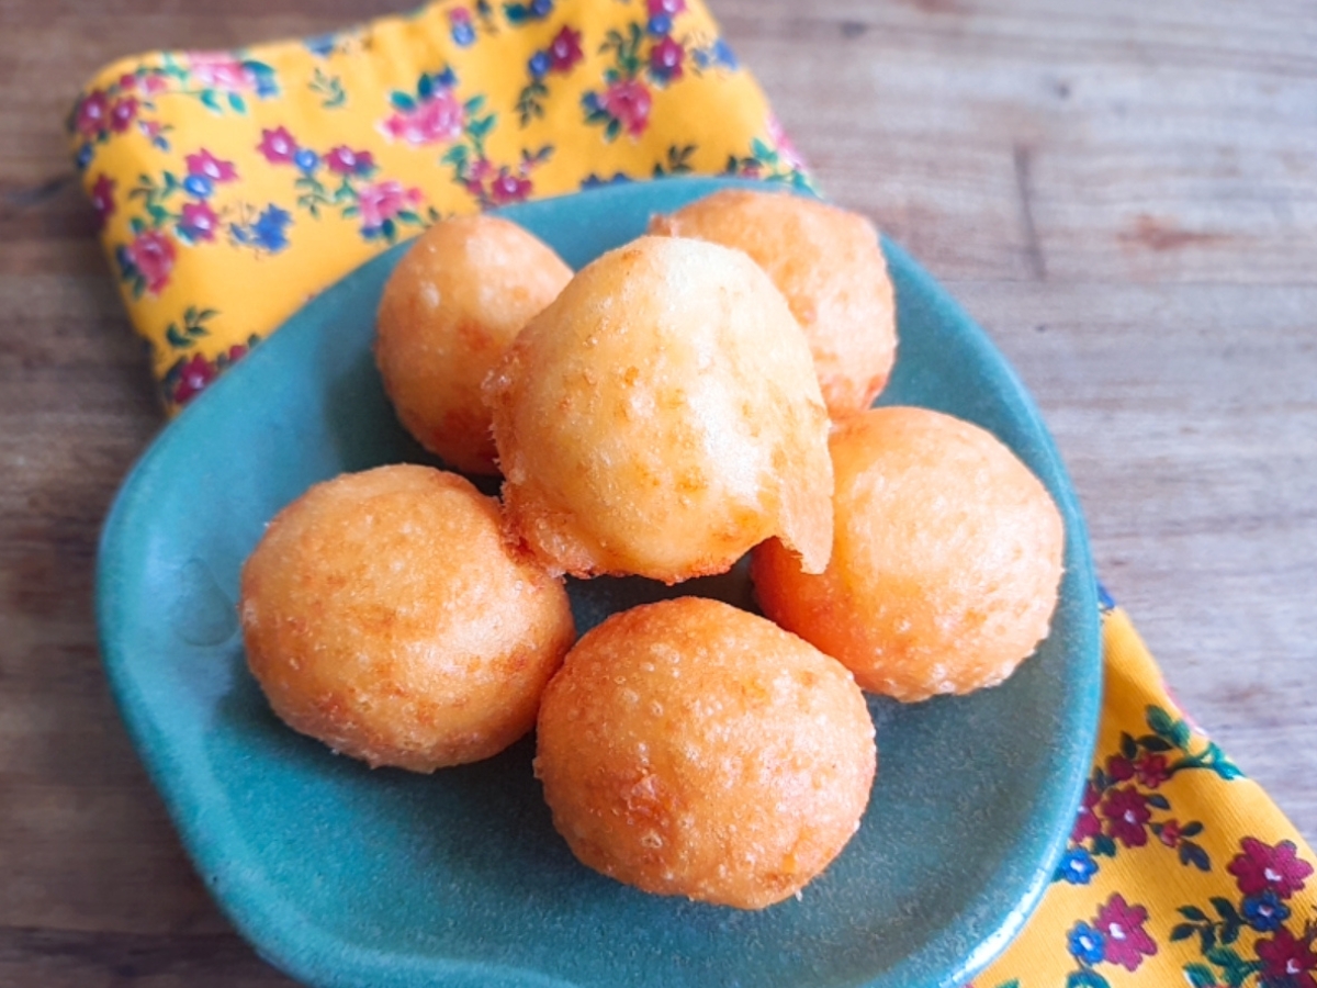
[[(715, 180), (612, 186), (506, 215), (573, 266)], [(760, 913), (657, 898), (577, 864), (531, 775), (532, 742), (431, 777), (371, 772), (282, 727), (248, 676), (234, 599), (266, 522), (311, 483), (427, 457), (370, 356), (403, 248), (288, 321), (163, 431), (105, 524), (97, 611), (124, 719), (183, 843), (238, 930), (321, 988), (957, 985), (1019, 929), (1077, 805), (1101, 690), (1098, 607), (1073, 491), (1025, 389), (900, 249), (901, 349), (884, 400), (996, 432), (1068, 526), (1052, 634), (998, 689), (873, 701), (880, 771), (860, 831)], [(699, 581), (752, 606), (744, 574)], [(573, 588), (585, 626), (665, 595)]]

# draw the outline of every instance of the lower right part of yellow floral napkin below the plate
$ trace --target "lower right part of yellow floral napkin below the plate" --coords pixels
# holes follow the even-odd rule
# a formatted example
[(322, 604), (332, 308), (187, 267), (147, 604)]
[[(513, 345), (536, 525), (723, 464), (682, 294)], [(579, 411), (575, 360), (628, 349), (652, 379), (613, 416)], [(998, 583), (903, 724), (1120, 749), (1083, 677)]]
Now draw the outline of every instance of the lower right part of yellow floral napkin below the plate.
[(1317, 988), (1317, 858), (1105, 594), (1102, 611), (1102, 723), (1069, 843), (976, 988)]

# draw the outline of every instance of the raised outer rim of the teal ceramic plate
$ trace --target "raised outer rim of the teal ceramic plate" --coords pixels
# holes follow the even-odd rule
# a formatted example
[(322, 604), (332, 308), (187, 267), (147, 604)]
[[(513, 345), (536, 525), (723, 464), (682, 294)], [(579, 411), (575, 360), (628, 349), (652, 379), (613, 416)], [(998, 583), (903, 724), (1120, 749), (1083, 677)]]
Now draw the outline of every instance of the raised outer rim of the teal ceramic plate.
[[(562, 196), (552, 196), (529, 203), (515, 204), (498, 209), (495, 213), (506, 216), (514, 221), (520, 221), (519, 216), (527, 213), (533, 215), (540, 209), (560, 208), (564, 202), (573, 200), (579, 196), (591, 196), (605, 203), (610, 198), (643, 198), (651, 186), (660, 182), (666, 186), (680, 184), (690, 190), (690, 198), (698, 198), (699, 195), (706, 195), (727, 187), (765, 187), (765, 183), (763, 182), (744, 179), (677, 177), (635, 183), (618, 183), (582, 190)], [(122, 634), (120, 631), (121, 609), (119, 606), (120, 553), (125, 551), (129, 553), (132, 552), (132, 541), (122, 539), (120, 534), (125, 530), (128, 522), (132, 520), (130, 512), (137, 508), (138, 505), (149, 505), (150, 487), (155, 481), (154, 470), (158, 461), (161, 461), (171, 451), (174, 444), (179, 441), (178, 437), (180, 435), (186, 436), (190, 429), (198, 428), (194, 423), (203, 423), (205, 420), (209, 415), (208, 410), (217, 404), (219, 399), (215, 398), (216, 394), (227, 394), (229, 389), (238, 386), (234, 382), (242, 378), (245, 368), (255, 366), (269, 360), (275, 360), (278, 350), (282, 348), (282, 344), (278, 341), (281, 339), (290, 339), (294, 333), (296, 333), (298, 323), (311, 327), (302, 329), (300, 332), (303, 333), (320, 329), (315, 325), (315, 320), (308, 317), (308, 311), (313, 314), (316, 307), (332, 306), (340, 294), (344, 294), (350, 288), (352, 282), (360, 277), (363, 269), (370, 267), (371, 265), (392, 263), (394, 261), (391, 261), (391, 258), (400, 256), (400, 253), (406, 250), (406, 246), (407, 242), (404, 241), (403, 244), (395, 245), (394, 248), (377, 254), (374, 258), (349, 271), (332, 286), (309, 299), (306, 306), (299, 308), (284, 323), (282, 323), (277, 331), (270, 333), (271, 339), (267, 339), (261, 346), (254, 348), (241, 364), (207, 387), (205, 391), (198, 395), (198, 398), (191, 402), (173, 422), (167, 423), (134, 462), (115, 495), (109, 511), (107, 512), (97, 545), (95, 614), (100, 653), (120, 717), (128, 730), (134, 748), (137, 750), (138, 759), (142, 761), (153, 786), (165, 802), (170, 821), (191, 860), (192, 867), (196, 869), (202, 881), (208, 887), (212, 900), (216, 902), (217, 908), (225, 914), (229, 922), (233, 923), (240, 935), (242, 935), (242, 938), (252, 945), (257, 954), (261, 955), (267, 963), (271, 963), (274, 967), (290, 974), (298, 980), (303, 980), (307, 984), (313, 984), (320, 988), (360, 988), (360, 985), (371, 983), (371, 975), (378, 974), (381, 966), (387, 966), (395, 972), (403, 968), (415, 968), (416, 976), (439, 976), (444, 979), (440, 984), (445, 985), (445, 988), (466, 988), (466, 985), (475, 988), (475, 985), (489, 985), (495, 981), (498, 984), (523, 985), (524, 988), (577, 988), (573, 981), (551, 977), (543, 972), (514, 964), (486, 964), (471, 960), (453, 960), (452, 958), (441, 956), (427, 956), (424, 960), (420, 960), (416, 955), (398, 955), (358, 943), (345, 945), (341, 939), (328, 934), (315, 923), (306, 921), (304, 917), (296, 914), (292, 909), (267, 908), (270, 902), (277, 902), (283, 906), (284, 898), (273, 893), (262, 896), (259, 892), (262, 881), (250, 873), (244, 877), (244, 880), (249, 884), (249, 888), (244, 894), (238, 896), (234, 887), (230, 884), (228, 894), (220, 896), (215, 891), (215, 885), (217, 884), (215, 875), (217, 872), (228, 871), (225, 868), (224, 859), (217, 855), (219, 844), (221, 842), (208, 838), (205, 827), (198, 825), (196, 822), (199, 817), (204, 815), (198, 805), (199, 802), (204, 802), (204, 800), (198, 800), (196, 793), (188, 792), (187, 785), (175, 784), (179, 779), (179, 773), (167, 771), (171, 760), (171, 752), (169, 750), (169, 744), (165, 743), (166, 735), (158, 728), (149, 715), (145, 701), (141, 697), (138, 684), (129, 672), (132, 659), (125, 655), (124, 649), (120, 647), (122, 639)], [(882, 246), (889, 265), (903, 266), (906, 274), (918, 283), (919, 290), (927, 298), (932, 298), (938, 302), (938, 304), (946, 307), (950, 315), (961, 327), (971, 331), (968, 336), (973, 348), (980, 352), (980, 354), (985, 354), (998, 370), (1004, 371), (1005, 385), (1011, 393), (1011, 398), (1015, 399), (1019, 410), (1023, 411), (1027, 419), (1026, 424), (1031, 435), (1040, 440), (1039, 445), (1042, 448), (1042, 453), (1044, 454), (1050, 469), (1055, 474), (1055, 490), (1051, 493), (1060, 502), (1059, 507), (1067, 519), (1067, 540), (1073, 540), (1073, 555), (1079, 560), (1080, 572), (1077, 574), (1077, 589), (1081, 598), (1079, 603), (1085, 613), (1092, 615), (1092, 618), (1083, 624), (1087, 644), (1085, 652), (1088, 653), (1089, 660), (1089, 681), (1072, 684), (1079, 690), (1079, 703), (1083, 707), (1075, 717), (1075, 721), (1083, 730), (1083, 736), (1077, 738), (1075, 743), (1080, 750), (1087, 752), (1087, 755), (1075, 759), (1073, 763), (1068, 765), (1068, 777), (1062, 780), (1062, 784), (1054, 786), (1052, 789), (1054, 798), (1051, 798), (1048, 804), (1052, 810), (1051, 815), (1055, 817), (1055, 819), (1050, 821), (1052, 825), (1048, 827), (1050, 839), (1046, 840), (1046, 846), (1042, 848), (1043, 854), (1036, 859), (1038, 867), (1034, 868), (1031, 880), (1023, 889), (1019, 891), (1021, 894), (1015, 898), (1015, 905), (1008, 912), (1006, 916), (1001, 917), (998, 926), (992, 930), (985, 939), (980, 941), (980, 943), (967, 956), (963, 958), (961, 963), (955, 966), (954, 970), (948, 970), (946, 975), (940, 976), (936, 981), (931, 983), (936, 985), (954, 985), (963, 984), (980, 972), (993, 959), (996, 959), (1006, 948), (1015, 934), (1019, 933), (1038, 904), (1042, 901), (1044, 892), (1051, 884), (1051, 872), (1055, 869), (1062, 854), (1064, 852), (1069, 833), (1069, 823), (1072, 821), (1075, 808), (1079, 805), (1080, 793), (1083, 792), (1083, 785), (1088, 776), (1092, 751), (1096, 746), (1100, 726), (1104, 688), (1101, 653), (1102, 622), (1098, 610), (1097, 580), (1093, 569), (1092, 549), (1088, 539), (1087, 523), (1079, 505), (1077, 493), (1075, 491), (1069, 473), (1065, 469), (1063, 458), (1060, 457), (1055, 440), (1047, 429), (1033, 397), (1025, 387), (1014, 366), (1006, 360), (1005, 354), (997, 349), (996, 344), (977, 324), (977, 321), (973, 320), (969, 314), (964, 311), (964, 308), (961, 308), (959, 302), (956, 302), (956, 299), (944, 287), (942, 287), (942, 285), (938, 283), (931, 274), (914, 261), (910, 254), (907, 254), (892, 240), (882, 237)], [(291, 329), (292, 333), (281, 336), (286, 328)], [(1052, 487), (1054, 485), (1048, 486)], [(1072, 555), (1069, 545), (1067, 547), (1067, 555)], [(1060, 798), (1060, 796), (1056, 794), (1062, 792), (1065, 793), (1065, 798)], [(1058, 804), (1064, 804), (1067, 808), (1064, 813), (1056, 809)], [(986, 887), (992, 883), (988, 881), (984, 884)], [(923, 945), (922, 950), (931, 948), (936, 942), (936, 937), (930, 939)], [(890, 979), (893, 984), (915, 984), (914, 981), (902, 980), (902, 972), (917, 956), (918, 955), (907, 955), (906, 959), (900, 962), (896, 967), (882, 972), (881, 977), (885, 980)], [(510, 976), (512, 980), (508, 980)], [(412, 981), (406, 983), (411, 984)], [(420, 981), (416, 981), (416, 984), (420, 984)]]

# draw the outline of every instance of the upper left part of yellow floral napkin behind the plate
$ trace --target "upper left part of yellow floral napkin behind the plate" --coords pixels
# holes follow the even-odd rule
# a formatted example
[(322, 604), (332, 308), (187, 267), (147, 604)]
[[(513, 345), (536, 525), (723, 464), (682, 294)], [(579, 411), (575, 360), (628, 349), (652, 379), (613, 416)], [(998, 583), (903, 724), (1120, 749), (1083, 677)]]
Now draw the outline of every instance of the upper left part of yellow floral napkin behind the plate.
[(439, 216), (682, 173), (806, 180), (686, 0), (437, 3), (154, 53), (103, 71), (68, 126), (170, 411)]

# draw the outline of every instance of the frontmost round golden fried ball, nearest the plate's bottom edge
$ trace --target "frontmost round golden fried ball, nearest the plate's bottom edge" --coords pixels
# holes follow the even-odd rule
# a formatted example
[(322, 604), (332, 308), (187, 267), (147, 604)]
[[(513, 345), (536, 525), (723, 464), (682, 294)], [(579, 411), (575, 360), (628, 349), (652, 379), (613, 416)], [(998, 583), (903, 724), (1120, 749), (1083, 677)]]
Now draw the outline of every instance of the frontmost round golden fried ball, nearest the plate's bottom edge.
[(851, 673), (698, 597), (583, 635), (536, 735), (553, 826), (583, 864), (738, 909), (778, 902), (827, 868), (860, 826), (877, 761)]

